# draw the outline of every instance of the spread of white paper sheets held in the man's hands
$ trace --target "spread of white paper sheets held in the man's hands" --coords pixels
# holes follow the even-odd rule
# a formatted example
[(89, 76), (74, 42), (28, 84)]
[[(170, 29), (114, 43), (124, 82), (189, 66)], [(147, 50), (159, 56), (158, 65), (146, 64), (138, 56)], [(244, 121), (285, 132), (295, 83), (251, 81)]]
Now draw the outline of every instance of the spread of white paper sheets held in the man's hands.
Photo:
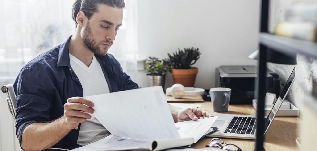
[[(174, 123), (161, 86), (88, 96), (113, 136), (72, 151), (163, 150), (197, 142), (217, 117)], [(178, 127), (178, 128), (177, 128)]]

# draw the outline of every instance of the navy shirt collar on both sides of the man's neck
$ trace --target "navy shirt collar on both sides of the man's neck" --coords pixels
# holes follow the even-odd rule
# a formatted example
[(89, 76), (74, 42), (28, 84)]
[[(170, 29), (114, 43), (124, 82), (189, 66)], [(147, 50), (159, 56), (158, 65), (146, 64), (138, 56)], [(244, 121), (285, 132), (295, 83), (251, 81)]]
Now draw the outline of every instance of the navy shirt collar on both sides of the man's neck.
[[(62, 43), (60, 46), (60, 50), (58, 52), (57, 67), (59, 66), (70, 67), (68, 43), (71, 37), (72, 35), (69, 36), (68, 39), (64, 43)], [(105, 56), (95, 55), (95, 57), (97, 57), (99, 61), (105, 62), (106, 64), (112, 63), (112, 60), (108, 54), (106, 54)]]

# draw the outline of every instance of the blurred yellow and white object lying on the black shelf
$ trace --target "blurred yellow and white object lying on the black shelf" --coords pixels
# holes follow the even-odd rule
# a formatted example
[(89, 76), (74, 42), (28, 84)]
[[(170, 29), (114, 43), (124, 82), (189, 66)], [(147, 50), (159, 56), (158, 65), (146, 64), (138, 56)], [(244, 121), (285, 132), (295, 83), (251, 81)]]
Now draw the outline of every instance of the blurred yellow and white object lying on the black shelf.
[(301, 39), (316, 41), (317, 26), (312, 22), (279, 22), (275, 26), (274, 34)]

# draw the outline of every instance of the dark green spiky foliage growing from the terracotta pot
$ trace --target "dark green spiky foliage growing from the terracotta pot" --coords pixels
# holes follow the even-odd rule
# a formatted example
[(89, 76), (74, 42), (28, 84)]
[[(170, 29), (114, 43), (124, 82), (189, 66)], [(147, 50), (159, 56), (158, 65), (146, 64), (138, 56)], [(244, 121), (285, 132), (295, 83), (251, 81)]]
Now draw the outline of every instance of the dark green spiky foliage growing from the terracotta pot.
[(196, 63), (201, 53), (198, 48), (184, 48), (174, 52), (173, 55), (167, 54), (168, 58), (163, 59), (163, 63), (167, 66), (168, 70), (171, 69), (191, 69), (191, 66)]

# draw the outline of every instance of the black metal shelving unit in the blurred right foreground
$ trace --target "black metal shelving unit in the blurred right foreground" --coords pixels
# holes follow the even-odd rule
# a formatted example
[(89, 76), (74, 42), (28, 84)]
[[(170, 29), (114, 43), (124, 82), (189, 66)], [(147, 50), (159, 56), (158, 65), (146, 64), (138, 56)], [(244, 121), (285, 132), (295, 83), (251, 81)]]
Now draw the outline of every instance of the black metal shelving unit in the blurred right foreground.
[[(265, 74), (267, 51), (278, 51), (285, 55), (302, 54), (317, 59), (317, 44), (268, 33), (268, 7), (269, 0), (261, 2), (261, 23), (259, 34), (259, 59), (258, 59), (258, 106), (256, 110), (256, 151), (263, 151), (263, 124), (264, 124), (264, 99), (265, 99)], [(317, 108), (316, 102), (307, 102), (311, 107)], [(262, 119), (262, 120), (260, 120)]]

